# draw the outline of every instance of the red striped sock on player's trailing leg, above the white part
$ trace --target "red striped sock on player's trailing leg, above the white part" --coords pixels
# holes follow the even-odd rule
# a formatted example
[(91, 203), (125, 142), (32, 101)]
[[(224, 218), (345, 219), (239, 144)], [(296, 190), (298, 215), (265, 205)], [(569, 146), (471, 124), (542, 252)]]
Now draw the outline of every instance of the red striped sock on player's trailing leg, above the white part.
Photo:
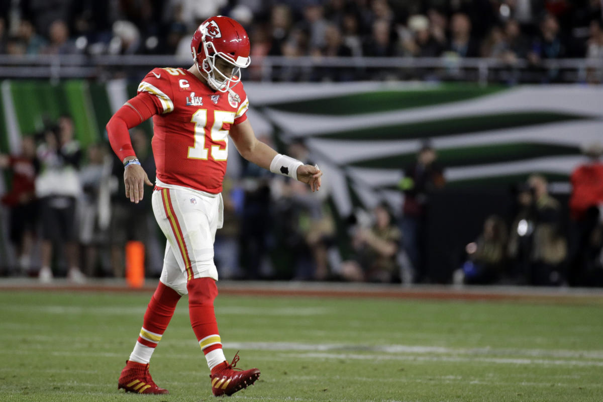
[[(168, 327), (169, 321), (174, 315), (174, 310), (180, 297), (174, 289), (159, 282), (147, 306), (138, 342), (151, 348), (157, 346), (157, 342), (159, 342), (163, 332), (165, 332), (165, 328)], [(157, 339), (157, 335), (159, 335), (159, 339)]]

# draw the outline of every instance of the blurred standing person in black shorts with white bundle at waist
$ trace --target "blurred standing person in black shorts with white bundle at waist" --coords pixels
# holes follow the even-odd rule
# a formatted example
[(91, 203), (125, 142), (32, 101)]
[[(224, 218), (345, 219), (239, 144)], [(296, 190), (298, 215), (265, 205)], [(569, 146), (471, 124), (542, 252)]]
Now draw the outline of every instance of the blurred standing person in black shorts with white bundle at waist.
[(43, 143), (37, 149), (42, 167), (36, 178), (36, 195), (40, 199), (42, 219), (42, 268), (40, 281), (52, 280), (52, 251), (62, 248), (68, 265), (68, 278), (84, 280), (79, 268), (77, 250), (76, 200), (81, 193), (80, 144), (74, 140), (74, 122), (63, 115), (58, 127), (46, 130)]

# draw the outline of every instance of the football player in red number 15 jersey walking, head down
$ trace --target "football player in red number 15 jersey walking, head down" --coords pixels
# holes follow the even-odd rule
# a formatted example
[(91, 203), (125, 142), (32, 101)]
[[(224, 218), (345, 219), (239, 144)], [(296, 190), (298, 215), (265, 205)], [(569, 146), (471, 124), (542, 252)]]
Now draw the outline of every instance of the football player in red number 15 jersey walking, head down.
[(138, 203), (144, 185), (153, 184), (136, 159), (128, 129), (153, 117), (157, 180), (152, 204), (167, 238), (159, 286), (119, 377), (118, 388), (127, 392), (168, 393), (153, 382), (149, 360), (185, 294), (192, 329), (211, 371), (213, 395), (232, 395), (260, 375), (256, 368), (233, 369), (238, 355), (227, 362), (213, 311), (218, 294), (213, 241), (223, 220), (220, 192), (229, 140), (242, 157), (262, 168), (307, 183), (312, 191), (321, 184), (317, 166), (278, 154), (256, 139), (246, 116), (249, 101), (240, 83), (240, 69), (251, 62), (244, 28), (229, 17), (210, 17), (195, 31), (191, 51), (191, 68), (151, 70), (137, 95), (107, 124), (113, 151), (124, 163), (125, 196)]

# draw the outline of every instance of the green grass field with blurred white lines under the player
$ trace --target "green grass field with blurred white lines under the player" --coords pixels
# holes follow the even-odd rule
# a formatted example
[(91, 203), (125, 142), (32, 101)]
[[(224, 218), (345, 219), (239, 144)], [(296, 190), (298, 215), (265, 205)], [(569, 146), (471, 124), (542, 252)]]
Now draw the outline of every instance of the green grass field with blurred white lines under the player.
[[(151, 361), (169, 395), (117, 390), (151, 294), (0, 292), (0, 401), (210, 401), (182, 300)], [(603, 304), (221, 295), (244, 401), (603, 401)]]

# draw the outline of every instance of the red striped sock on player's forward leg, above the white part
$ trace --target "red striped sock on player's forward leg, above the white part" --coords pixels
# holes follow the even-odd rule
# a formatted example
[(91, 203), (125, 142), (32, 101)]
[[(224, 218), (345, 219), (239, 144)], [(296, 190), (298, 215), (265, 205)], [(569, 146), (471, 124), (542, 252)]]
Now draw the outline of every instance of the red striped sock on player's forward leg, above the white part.
[(212, 278), (191, 279), (186, 284), (189, 292), (189, 315), (192, 330), (204, 354), (221, 349), (218, 323), (213, 312), (213, 300), (218, 295), (216, 281)]

